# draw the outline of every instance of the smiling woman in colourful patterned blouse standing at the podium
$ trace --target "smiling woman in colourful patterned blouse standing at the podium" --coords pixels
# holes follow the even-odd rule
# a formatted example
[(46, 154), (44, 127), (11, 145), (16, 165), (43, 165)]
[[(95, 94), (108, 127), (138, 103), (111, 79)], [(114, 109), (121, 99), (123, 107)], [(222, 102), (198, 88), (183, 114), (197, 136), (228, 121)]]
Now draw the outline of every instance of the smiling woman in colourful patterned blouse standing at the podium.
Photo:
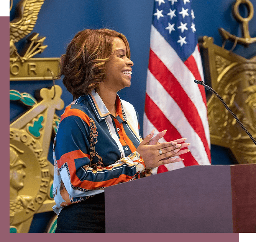
[(105, 232), (105, 187), (189, 152), (180, 150), (185, 139), (158, 144), (166, 131), (141, 139), (135, 108), (117, 95), (131, 85), (132, 66), (126, 37), (109, 29), (80, 31), (61, 56), (59, 77), (77, 99), (54, 140), (56, 232)]

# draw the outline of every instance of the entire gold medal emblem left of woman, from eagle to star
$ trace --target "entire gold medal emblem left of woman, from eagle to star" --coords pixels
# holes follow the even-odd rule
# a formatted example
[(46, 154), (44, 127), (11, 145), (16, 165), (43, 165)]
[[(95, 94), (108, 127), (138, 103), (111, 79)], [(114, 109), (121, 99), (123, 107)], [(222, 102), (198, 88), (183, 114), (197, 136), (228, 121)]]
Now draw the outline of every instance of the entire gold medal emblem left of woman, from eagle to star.
[[(16, 5), (10, 22), (10, 81), (51, 80), (59, 73), (59, 58), (34, 58), (47, 47), (46, 37), (31, 33), (43, 3), (20, 0)], [(10, 11), (12, 5), (10, 0)], [(27, 35), (27, 44), (18, 53), (15, 43)], [(61, 94), (60, 86), (43, 88), (38, 102), (29, 93), (10, 90), (10, 100), (30, 106), (10, 124), (10, 232), (28, 232), (35, 213), (53, 211), (53, 165), (48, 152), (60, 120), (55, 110), (64, 108)]]

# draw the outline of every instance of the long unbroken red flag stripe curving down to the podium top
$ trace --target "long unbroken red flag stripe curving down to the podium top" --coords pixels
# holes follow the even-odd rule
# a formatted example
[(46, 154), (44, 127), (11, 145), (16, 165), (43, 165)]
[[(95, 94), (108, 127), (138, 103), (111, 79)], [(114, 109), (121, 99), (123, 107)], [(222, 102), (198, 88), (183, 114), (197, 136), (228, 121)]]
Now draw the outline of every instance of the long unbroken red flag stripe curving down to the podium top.
[(184, 116), (187, 118), (194, 131), (202, 140), (208, 159), (211, 160), (208, 142), (197, 108), (190, 100), (187, 93), (182, 88), (181, 84), (177, 81), (177, 79), (173, 76), (169, 69), (167, 69), (164, 63), (162, 63), (162, 61), (151, 49), (149, 52), (148, 68), (153, 76), (162, 84), (164, 89), (166, 89), (168, 94), (171, 95), (174, 101), (179, 105), (182, 112), (184, 113)]

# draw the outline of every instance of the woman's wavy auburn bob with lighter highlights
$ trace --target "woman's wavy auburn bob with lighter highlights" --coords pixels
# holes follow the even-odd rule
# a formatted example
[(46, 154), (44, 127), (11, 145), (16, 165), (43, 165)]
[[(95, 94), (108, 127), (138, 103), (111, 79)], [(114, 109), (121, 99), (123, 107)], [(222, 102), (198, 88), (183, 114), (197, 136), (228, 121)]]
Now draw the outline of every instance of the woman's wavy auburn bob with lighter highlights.
[(105, 78), (105, 64), (114, 54), (113, 38), (119, 37), (126, 46), (130, 59), (130, 47), (125, 35), (111, 29), (84, 29), (78, 32), (67, 46), (66, 54), (59, 61), (62, 82), (74, 99), (89, 94)]

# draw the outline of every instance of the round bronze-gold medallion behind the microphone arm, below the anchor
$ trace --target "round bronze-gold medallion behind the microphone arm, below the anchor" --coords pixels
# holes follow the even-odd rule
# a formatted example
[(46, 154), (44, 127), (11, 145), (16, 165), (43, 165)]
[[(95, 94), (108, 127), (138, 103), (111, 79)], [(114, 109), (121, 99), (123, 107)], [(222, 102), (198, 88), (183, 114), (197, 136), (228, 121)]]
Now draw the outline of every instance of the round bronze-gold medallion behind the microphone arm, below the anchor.
[[(218, 77), (217, 92), (243, 125), (256, 134), (256, 63), (234, 63)], [(217, 97), (215, 97), (217, 99)], [(249, 139), (225, 106), (215, 103), (218, 127), (226, 139)]]

